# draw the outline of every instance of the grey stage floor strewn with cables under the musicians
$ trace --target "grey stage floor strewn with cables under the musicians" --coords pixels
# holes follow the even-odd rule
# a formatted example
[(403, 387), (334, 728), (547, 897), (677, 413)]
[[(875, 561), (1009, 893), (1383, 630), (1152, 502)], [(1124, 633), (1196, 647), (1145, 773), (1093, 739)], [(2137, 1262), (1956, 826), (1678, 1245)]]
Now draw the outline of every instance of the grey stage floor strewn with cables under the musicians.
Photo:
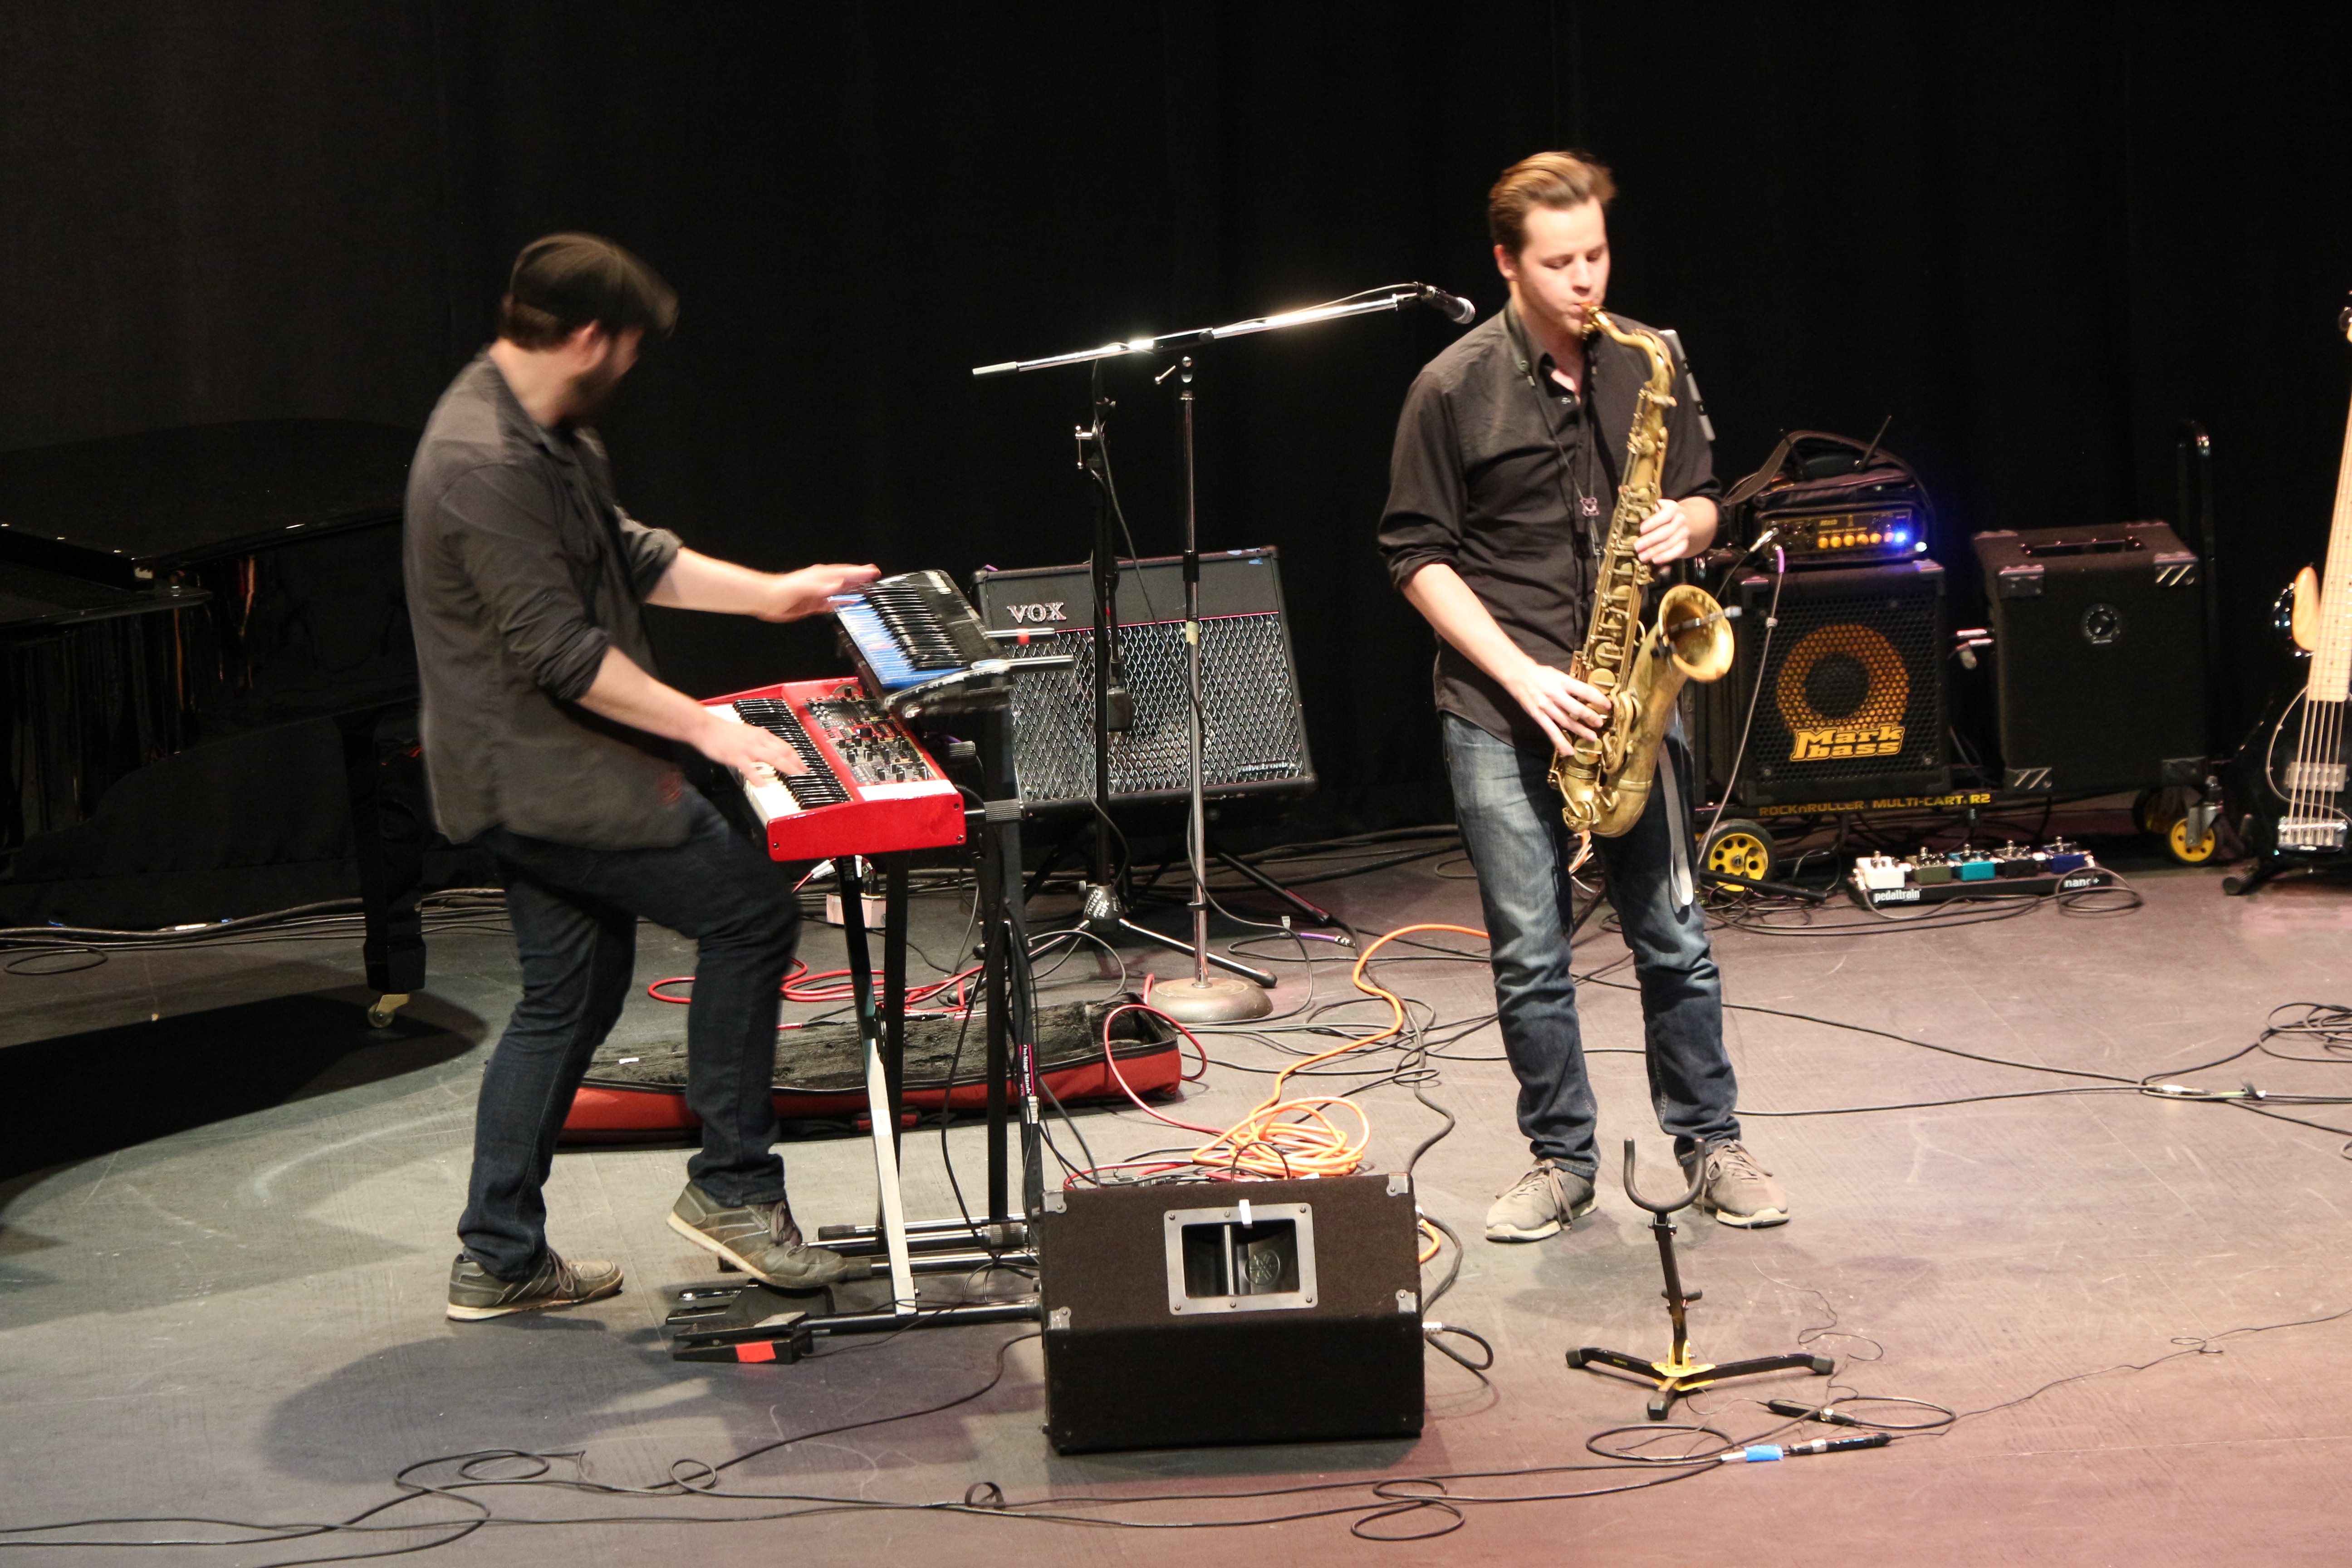
[[(2352, 1001), (2352, 889), (2230, 900), (2211, 870), (2136, 879), (2145, 910), (2112, 919), (2042, 907), (1947, 931), (1726, 931), (1717, 950), (1736, 1004), (2131, 1079), (2251, 1041), (2279, 1004)], [(1432, 863), (1322, 891), (1367, 931), (1475, 924), (1472, 884)], [(922, 919), (934, 950), (953, 945), (955, 910), (941, 903)], [(818, 961), (830, 950), (830, 936), (809, 943)], [(1599, 966), (1621, 945), (1595, 936), (1583, 952)], [(445, 933), (433, 964), (430, 994), (390, 1034), (365, 1030), (358, 954), (339, 943), (118, 954), (78, 976), (0, 978), (0, 1084), (14, 1168), (26, 1171), (0, 1185), (0, 1523), (325, 1521), (388, 1497), (405, 1465), (475, 1448), (583, 1450), (597, 1481), (654, 1486), (684, 1460), (941, 1403), (988, 1380), (1016, 1331), (910, 1333), (802, 1366), (673, 1363), (654, 1286), (706, 1274), (663, 1227), (682, 1180), (675, 1150), (576, 1152), (555, 1168), (555, 1244), (623, 1260), (628, 1293), (579, 1312), (447, 1324), (475, 1077), (515, 978), (494, 931)], [(687, 966), (670, 938), (647, 933), (644, 978)], [(1181, 961), (1152, 966), (1174, 973)], [(1446, 1018), (1489, 1004), (1472, 964), (1395, 964), (1385, 976)], [(1098, 985), (1091, 964), (1070, 964), (1049, 999)], [(1317, 985), (1336, 997), (1345, 971), (1322, 966)], [(1294, 969), (1282, 1004), (1303, 994)], [(1597, 1058), (1604, 1147), (1639, 1135), (1663, 1185), (1665, 1143), (1644, 1110), (1639, 1060), (1623, 1053), (1637, 1041), (1635, 999), (1590, 987), (1585, 1006), (1588, 1039), (1621, 1051)], [(637, 1001), (621, 1027), (654, 1039), (680, 1023), (677, 1009)], [(1367, 1547), (1345, 1514), (1214, 1533), (953, 1514), (708, 1523), (755, 1509), (510, 1490), (494, 1497), (503, 1516), (661, 1519), (492, 1526), (416, 1561), (2343, 1561), (2352, 1319), (2216, 1338), (2352, 1309), (2343, 1135), (2129, 1091), (1771, 1119), (1762, 1112), (2084, 1079), (1769, 1013), (1731, 1013), (1729, 1027), (1748, 1140), (1785, 1178), (1797, 1218), (1757, 1234), (1684, 1225), (1686, 1274), (1705, 1291), (1698, 1352), (1733, 1359), (1806, 1342), (1839, 1356), (1844, 1389), (2004, 1408), (1879, 1453), (1731, 1465), (1653, 1493), (1463, 1505), (1463, 1528), (1425, 1544)], [(1482, 1387), (1432, 1354), (1416, 1443), (1056, 1460), (1037, 1429), (1037, 1347), (1023, 1342), (1004, 1380), (971, 1403), (811, 1439), (729, 1474), (779, 1493), (903, 1502), (960, 1500), (981, 1481), (1016, 1500), (1204, 1493), (1115, 1514), (1131, 1521), (1369, 1507), (1359, 1490), (1214, 1497), (1312, 1481), (1566, 1467), (1446, 1483), (1526, 1497), (1651, 1479), (1576, 1469), (1595, 1462), (1590, 1434), (1639, 1422), (1642, 1396), (1562, 1363), (1581, 1342), (1663, 1354), (1642, 1215), (1609, 1180), (1599, 1213), (1569, 1237), (1479, 1241), (1477, 1220), (1522, 1171), (1524, 1145), (1494, 1032), (1451, 1051), (1486, 1060), (1442, 1065), (1435, 1093), (1461, 1128), (1423, 1159), (1418, 1190), (1470, 1237), (1437, 1314), (1494, 1340), (1496, 1368)], [(1218, 1056), (1272, 1060), (1247, 1044), (1221, 1044)], [(2272, 1093), (2352, 1091), (2352, 1077), (2326, 1065), (2270, 1058), (2201, 1081), (2244, 1077)], [(1261, 1088), (1263, 1077), (1216, 1070), (1178, 1114), (1225, 1124)], [(1395, 1086), (1367, 1100), (1374, 1161), (1392, 1168), (1435, 1119)], [(2352, 1126), (2352, 1107), (2286, 1110)], [(1082, 1131), (1101, 1159), (1169, 1143), (1138, 1114), (1089, 1114)], [(910, 1206), (946, 1211), (936, 1140), (908, 1147)], [(976, 1128), (955, 1135), (955, 1152), (969, 1190)], [(866, 1143), (795, 1143), (788, 1161), (807, 1222), (870, 1213)], [(2037, 1394), (2065, 1378), (2082, 1380)], [(1265, 1399), (1317, 1396), (1287, 1387), (1282, 1368), (1265, 1368), (1263, 1387)], [(1790, 1378), (1722, 1389), (1696, 1410), (1748, 1436), (1773, 1425), (1757, 1399), (1816, 1387)], [(437, 1502), (405, 1516), (428, 1512), (456, 1516)], [(278, 1563), (421, 1540), (24, 1549), (14, 1561)]]

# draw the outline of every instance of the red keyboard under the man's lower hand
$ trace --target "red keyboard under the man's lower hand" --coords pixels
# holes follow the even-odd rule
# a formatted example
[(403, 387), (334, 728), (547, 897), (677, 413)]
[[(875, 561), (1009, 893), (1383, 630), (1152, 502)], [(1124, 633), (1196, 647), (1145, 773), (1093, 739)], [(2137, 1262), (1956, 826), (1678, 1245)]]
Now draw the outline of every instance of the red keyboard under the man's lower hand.
[(964, 842), (957, 788), (854, 679), (757, 686), (715, 696), (703, 708), (757, 724), (809, 766), (807, 773), (760, 769), (741, 778), (753, 811), (767, 823), (774, 858), (887, 856)]

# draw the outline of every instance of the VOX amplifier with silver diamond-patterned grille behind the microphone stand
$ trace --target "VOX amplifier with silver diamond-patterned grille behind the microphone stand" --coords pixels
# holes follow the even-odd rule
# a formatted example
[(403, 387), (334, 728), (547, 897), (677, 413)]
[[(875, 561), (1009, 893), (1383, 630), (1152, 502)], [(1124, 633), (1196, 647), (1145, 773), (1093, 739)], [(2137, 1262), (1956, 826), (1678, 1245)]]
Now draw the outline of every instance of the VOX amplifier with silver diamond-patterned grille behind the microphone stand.
[[(1087, 567), (1033, 567), (978, 571), (971, 585), (988, 630), (1054, 632), (1007, 644), (1007, 656), (1075, 658), (1014, 677), (1014, 771), (1033, 811), (1082, 806), (1094, 799), (1094, 576)], [(1315, 764), (1275, 552), (1202, 552), (1200, 614), (1202, 790), (1209, 799), (1305, 795)], [(1183, 559), (1124, 567), (1117, 616), (1136, 722), (1110, 736), (1110, 795), (1178, 799), (1192, 788)]]

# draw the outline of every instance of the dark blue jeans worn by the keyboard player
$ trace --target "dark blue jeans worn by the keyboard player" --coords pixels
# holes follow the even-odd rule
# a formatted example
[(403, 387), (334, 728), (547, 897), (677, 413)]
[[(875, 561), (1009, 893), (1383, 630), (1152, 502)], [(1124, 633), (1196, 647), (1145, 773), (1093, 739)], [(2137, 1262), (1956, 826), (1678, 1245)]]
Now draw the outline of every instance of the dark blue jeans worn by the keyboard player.
[(699, 795), (675, 849), (572, 849), (492, 827), (475, 842), (506, 872), (522, 1001), (506, 1020), (473, 1121), (473, 1180), (456, 1234), (499, 1279), (546, 1253), (541, 1187), (581, 1074), (635, 987), (637, 917), (691, 936), (687, 1105), (703, 1147), (687, 1175), (727, 1206), (783, 1197), (776, 1157), (776, 994), (800, 940), (783, 865)]

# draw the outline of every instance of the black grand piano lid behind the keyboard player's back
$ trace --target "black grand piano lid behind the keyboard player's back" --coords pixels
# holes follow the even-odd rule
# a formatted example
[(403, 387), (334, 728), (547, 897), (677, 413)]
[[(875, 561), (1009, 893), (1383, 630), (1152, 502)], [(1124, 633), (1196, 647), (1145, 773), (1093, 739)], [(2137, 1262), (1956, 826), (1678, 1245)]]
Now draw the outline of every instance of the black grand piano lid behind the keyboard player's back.
[(115, 588), (397, 522), (416, 430), (268, 418), (0, 451), (0, 559)]

